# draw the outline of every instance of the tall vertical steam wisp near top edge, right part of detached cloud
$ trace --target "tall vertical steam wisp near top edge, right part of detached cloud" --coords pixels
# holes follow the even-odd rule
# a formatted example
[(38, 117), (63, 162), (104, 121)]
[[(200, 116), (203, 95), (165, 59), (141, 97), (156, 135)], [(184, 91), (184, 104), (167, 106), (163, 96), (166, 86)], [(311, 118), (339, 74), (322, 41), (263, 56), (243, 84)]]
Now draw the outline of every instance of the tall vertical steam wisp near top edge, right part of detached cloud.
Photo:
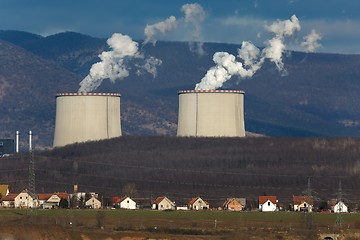
[(196, 43), (190, 43), (190, 50), (196, 52), (199, 55), (204, 55), (205, 51), (201, 41), (201, 26), (202, 22), (205, 20), (205, 11), (203, 7), (197, 3), (184, 4), (181, 7), (181, 11), (185, 15), (185, 23), (192, 24), (194, 28), (193, 39)]

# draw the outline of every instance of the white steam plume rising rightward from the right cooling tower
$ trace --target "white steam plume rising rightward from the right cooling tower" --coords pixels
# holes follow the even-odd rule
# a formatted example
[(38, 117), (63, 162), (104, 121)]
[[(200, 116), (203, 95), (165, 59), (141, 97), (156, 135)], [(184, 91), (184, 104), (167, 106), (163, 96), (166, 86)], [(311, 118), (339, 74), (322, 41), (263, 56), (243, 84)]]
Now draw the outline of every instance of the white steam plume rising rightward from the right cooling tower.
[(232, 54), (215, 53), (213, 61), (216, 65), (207, 71), (200, 83), (196, 84), (195, 90), (217, 89), (234, 75), (241, 78), (252, 77), (261, 68), (265, 59), (274, 62), (279, 71), (284, 71), (282, 62), (282, 54), (286, 49), (284, 38), (300, 30), (299, 20), (293, 15), (290, 20), (278, 20), (265, 28), (273, 33), (274, 37), (266, 42), (266, 47), (261, 52), (254, 44), (245, 41), (238, 50), (238, 57), (244, 63), (236, 61)]

